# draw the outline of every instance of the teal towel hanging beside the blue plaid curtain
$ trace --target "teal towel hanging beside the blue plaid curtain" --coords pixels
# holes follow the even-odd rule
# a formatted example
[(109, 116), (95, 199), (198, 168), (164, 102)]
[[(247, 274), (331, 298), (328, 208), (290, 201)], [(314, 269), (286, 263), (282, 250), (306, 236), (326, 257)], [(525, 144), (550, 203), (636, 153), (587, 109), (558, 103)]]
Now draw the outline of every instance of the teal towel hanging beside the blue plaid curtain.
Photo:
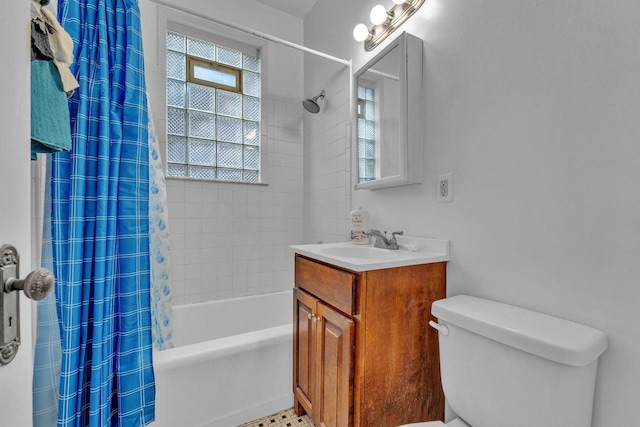
[(67, 94), (53, 61), (31, 61), (31, 158), (71, 149)]

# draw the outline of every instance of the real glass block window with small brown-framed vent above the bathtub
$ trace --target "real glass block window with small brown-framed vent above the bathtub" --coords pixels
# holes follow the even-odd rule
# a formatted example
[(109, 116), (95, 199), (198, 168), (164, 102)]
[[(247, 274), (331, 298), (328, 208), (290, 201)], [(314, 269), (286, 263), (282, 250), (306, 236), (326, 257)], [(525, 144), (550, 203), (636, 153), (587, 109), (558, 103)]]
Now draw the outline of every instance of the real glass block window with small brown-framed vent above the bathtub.
[(167, 175), (260, 182), (260, 58), (167, 32)]

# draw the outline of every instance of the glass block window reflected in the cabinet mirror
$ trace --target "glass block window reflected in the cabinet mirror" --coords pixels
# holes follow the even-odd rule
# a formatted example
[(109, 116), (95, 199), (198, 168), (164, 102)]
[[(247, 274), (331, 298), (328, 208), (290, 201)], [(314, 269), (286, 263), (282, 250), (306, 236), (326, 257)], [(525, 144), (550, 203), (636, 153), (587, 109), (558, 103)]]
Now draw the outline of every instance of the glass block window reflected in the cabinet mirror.
[(358, 86), (358, 182), (376, 179), (375, 91)]

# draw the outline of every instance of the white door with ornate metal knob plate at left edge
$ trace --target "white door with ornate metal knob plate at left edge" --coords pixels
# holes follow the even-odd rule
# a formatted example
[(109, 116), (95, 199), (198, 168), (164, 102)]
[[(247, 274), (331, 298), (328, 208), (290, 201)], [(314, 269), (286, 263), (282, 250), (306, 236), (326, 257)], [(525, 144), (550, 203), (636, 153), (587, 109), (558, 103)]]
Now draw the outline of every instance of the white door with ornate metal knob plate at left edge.
[[(0, 245), (18, 249), (21, 278), (31, 270), (30, 7), (26, 1), (2, 2), (0, 25)], [(20, 299), (22, 344), (15, 359), (0, 366), (3, 426), (32, 424), (31, 303)]]

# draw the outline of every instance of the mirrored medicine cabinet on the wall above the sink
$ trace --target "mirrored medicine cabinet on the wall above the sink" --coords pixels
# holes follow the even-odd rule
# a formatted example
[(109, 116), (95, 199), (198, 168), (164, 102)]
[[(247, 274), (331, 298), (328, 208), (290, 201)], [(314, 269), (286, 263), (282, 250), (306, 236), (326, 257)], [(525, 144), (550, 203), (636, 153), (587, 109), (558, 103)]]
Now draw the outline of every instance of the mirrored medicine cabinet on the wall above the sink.
[(402, 33), (354, 74), (355, 189), (422, 181), (422, 40)]

